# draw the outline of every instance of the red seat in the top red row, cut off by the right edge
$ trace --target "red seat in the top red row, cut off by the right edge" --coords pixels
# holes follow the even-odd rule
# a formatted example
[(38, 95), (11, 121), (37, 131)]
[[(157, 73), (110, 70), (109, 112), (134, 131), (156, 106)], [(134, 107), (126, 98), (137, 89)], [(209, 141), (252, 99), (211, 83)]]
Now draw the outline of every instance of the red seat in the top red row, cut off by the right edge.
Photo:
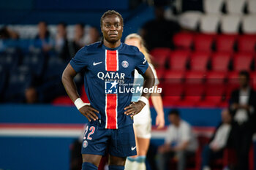
[(238, 51), (255, 53), (256, 34), (238, 36)]

